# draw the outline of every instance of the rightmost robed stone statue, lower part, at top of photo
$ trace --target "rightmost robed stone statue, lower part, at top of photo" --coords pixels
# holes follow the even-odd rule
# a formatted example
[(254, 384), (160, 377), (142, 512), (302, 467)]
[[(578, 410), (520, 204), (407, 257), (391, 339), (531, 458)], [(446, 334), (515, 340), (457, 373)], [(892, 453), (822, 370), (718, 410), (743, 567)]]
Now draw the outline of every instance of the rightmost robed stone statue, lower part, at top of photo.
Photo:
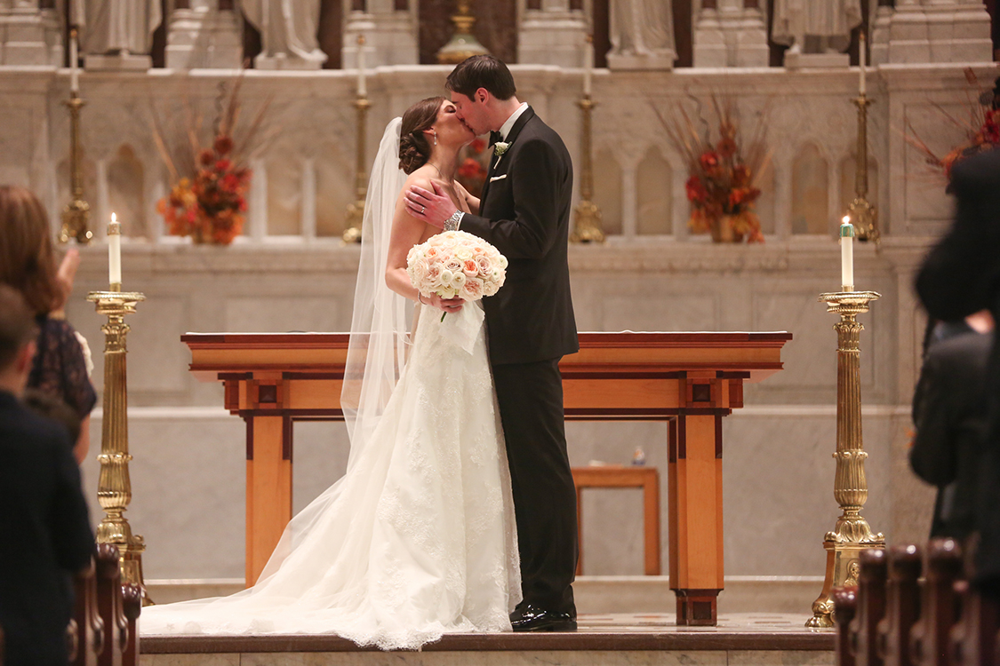
[(774, 0), (771, 39), (793, 53), (840, 53), (860, 23), (860, 0)]

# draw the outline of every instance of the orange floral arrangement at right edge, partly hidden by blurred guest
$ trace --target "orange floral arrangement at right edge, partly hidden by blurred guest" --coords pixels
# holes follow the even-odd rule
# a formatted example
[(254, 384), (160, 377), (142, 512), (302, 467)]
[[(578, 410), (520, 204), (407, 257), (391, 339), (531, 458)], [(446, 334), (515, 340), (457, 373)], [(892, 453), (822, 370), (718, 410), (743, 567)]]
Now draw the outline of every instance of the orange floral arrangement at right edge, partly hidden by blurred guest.
[(913, 125), (907, 121), (908, 132), (905, 135), (907, 143), (923, 153), (927, 164), (939, 170), (951, 182), (951, 170), (960, 160), (1000, 147), (1000, 79), (996, 88), (982, 88), (971, 67), (965, 68), (965, 80), (969, 84), (967, 91), (969, 117), (962, 120), (946, 111), (939, 104), (932, 106), (941, 114), (948, 124), (960, 128), (965, 133), (965, 141), (952, 148), (943, 157), (936, 154), (920, 139)]

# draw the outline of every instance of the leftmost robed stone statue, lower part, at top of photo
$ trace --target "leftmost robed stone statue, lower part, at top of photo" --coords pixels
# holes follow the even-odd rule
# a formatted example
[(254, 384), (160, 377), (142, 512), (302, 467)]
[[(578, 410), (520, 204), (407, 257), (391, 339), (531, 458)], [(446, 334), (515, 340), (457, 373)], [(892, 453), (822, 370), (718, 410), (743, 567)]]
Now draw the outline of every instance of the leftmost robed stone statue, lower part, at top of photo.
[(159, 0), (73, 0), (81, 50), (95, 56), (148, 54), (163, 16)]

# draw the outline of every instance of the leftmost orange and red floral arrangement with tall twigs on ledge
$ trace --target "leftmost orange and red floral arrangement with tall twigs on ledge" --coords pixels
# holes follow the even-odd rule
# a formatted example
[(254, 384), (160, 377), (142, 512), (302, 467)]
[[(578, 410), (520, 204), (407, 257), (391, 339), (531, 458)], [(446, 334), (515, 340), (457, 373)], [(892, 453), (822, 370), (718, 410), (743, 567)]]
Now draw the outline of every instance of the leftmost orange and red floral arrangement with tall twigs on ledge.
[[(227, 90), (219, 85), (216, 108), (223, 110), (213, 123), (211, 143), (203, 147), (201, 119), (195, 119), (185, 98), (185, 118), (188, 127), (182, 131), (186, 142), (177, 142), (175, 150), (168, 148), (163, 123), (153, 109), (153, 136), (160, 155), (170, 171), (170, 195), (156, 204), (167, 230), (173, 236), (190, 236), (196, 243), (229, 245), (243, 232), (246, 197), (250, 189), (251, 171), (246, 162), (259, 137), (267, 100), (246, 132), (238, 134), (240, 116), (240, 80)], [(237, 145), (239, 150), (237, 150)]]

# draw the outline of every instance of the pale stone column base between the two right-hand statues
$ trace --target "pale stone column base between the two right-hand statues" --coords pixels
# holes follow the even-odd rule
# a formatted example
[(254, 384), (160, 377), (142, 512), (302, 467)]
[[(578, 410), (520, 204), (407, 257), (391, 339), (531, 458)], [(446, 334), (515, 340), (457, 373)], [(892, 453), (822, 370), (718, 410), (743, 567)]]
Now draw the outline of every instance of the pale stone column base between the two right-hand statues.
[(694, 25), (695, 67), (767, 67), (767, 25), (758, 0), (702, 0)]

